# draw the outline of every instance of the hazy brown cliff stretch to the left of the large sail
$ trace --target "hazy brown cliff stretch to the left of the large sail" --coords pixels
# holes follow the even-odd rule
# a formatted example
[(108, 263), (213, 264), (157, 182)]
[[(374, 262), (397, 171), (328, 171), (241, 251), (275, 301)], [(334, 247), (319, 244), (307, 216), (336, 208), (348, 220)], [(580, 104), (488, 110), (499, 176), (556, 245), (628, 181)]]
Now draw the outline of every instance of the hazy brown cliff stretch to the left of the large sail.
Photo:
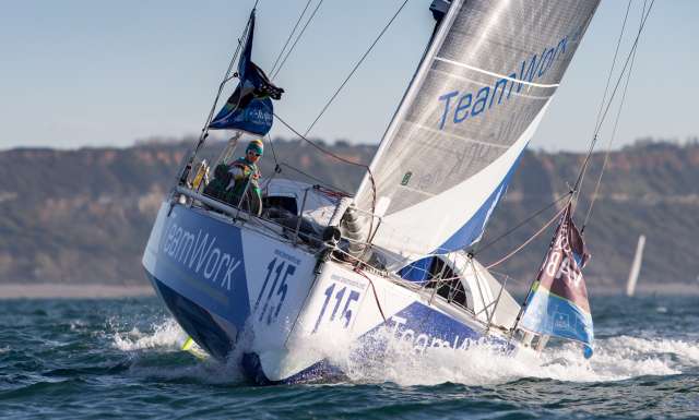
[[(0, 152), (0, 283), (144, 281), (141, 254), (188, 147)], [(204, 151), (210, 161), (221, 148)], [(365, 161), (374, 149), (333, 147), (345, 158)], [(351, 190), (360, 181), (357, 167), (337, 167), (299, 142), (282, 142), (275, 152), (281, 161), (339, 188)], [(270, 149), (268, 155), (262, 171), (270, 175)], [(304, 179), (286, 166), (283, 170), (285, 177)]]

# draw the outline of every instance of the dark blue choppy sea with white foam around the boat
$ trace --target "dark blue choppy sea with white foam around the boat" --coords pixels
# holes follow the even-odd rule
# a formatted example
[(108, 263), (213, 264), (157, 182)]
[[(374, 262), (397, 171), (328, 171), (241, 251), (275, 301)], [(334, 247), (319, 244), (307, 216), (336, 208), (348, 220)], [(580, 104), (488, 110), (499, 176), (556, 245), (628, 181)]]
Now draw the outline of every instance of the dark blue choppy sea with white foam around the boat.
[(179, 350), (155, 298), (0, 301), (0, 417), (12, 419), (699, 419), (699, 298), (592, 300), (595, 353), (393, 346), (334, 384), (260, 387)]

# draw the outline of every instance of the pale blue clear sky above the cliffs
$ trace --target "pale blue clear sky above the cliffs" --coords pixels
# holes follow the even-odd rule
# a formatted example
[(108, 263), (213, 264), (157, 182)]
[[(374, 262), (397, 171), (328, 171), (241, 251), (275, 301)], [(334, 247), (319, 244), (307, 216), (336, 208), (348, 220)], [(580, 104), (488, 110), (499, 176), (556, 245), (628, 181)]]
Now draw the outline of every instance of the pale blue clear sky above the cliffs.
[[(129, 146), (196, 135), (253, 2), (0, 0), (0, 149)], [(324, 0), (275, 80), (286, 91), (275, 111), (305, 131), (401, 3)], [(407, 2), (311, 136), (380, 141), (429, 39), (429, 3)], [(642, 3), (631, 4), (621, 58)], [(261, 68), (272, 67), (305, 4), (260, 0), (253, 60)], [(626, 5), (602, 1), (532, 147), (587, 148)], [(699, 134), (692, 76), (698, 17), (699, 1), (655, 1), (614, 146)], [(272, 134), (293, 136), (280, 123)]]

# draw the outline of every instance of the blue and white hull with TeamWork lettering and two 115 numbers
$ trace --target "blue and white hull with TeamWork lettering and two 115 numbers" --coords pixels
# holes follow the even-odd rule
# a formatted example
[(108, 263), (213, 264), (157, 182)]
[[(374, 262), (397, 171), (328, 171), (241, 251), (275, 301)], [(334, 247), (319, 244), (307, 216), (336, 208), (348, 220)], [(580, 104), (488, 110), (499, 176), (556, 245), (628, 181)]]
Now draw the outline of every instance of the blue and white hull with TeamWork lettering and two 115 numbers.
[(323, 261), (265, 220), (242, 220), (164, 203), (143, 265), (194, 341), (218, 359), (241, 357), (258, 383), (341, 374), (329, 359), (332, 351), (376, 347), (380, 331), (388, 332), (383, 339), (405, 340), (424, 352), (466, 348), (484, 337), (491, 321), (488, 336), (506, 343), (496, 324), (511, 323), (517, 311), (507, 301), (509, 309), (501, 302), (494, 313), (500, 290), (477, 263), (454, 259), (454, 269), (474, 293), (466, 310), (434, 289)]

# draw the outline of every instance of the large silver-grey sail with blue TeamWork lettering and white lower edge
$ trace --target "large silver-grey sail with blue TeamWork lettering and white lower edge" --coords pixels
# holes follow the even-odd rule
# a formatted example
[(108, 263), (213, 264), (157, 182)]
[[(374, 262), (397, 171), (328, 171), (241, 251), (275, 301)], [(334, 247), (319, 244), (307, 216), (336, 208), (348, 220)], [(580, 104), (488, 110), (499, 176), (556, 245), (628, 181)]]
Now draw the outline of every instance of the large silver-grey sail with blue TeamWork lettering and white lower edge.
[(479, 239), (597, 3), (452, 2), (355, 199), (395, 266)]

